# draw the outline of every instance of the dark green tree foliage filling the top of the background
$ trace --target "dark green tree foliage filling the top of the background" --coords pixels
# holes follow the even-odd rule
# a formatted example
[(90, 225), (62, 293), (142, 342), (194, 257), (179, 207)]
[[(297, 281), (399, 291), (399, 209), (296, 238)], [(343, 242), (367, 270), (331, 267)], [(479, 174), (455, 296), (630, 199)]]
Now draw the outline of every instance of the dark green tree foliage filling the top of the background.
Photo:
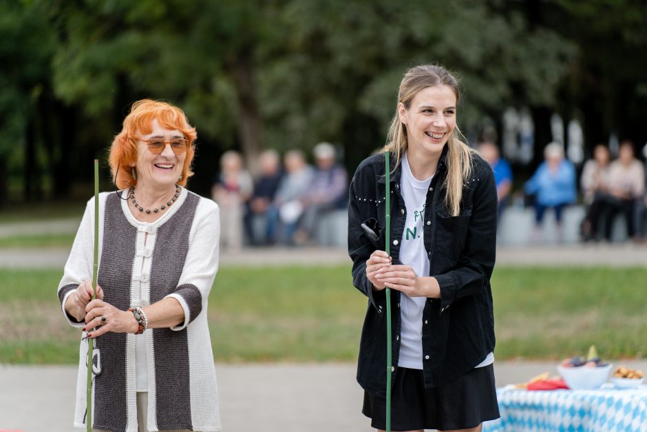
[(352, 170), (421, 63), (460, 76), (468, 137), (527, 106), (538, 134), (559, 112), (584, 118), (587, 145), (641, 144), (646, 18), (629, 0), (0, 0), (0, 193), (67, 194), (145, 97), (197, 127), (198, 192), (229, 148), (254, 161), (330, 141)]

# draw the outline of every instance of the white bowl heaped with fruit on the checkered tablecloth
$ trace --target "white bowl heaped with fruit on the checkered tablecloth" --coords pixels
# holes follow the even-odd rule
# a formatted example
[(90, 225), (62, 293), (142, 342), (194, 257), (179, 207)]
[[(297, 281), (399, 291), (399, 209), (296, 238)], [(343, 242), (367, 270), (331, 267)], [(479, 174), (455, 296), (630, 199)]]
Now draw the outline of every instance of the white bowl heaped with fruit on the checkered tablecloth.
[(591, 390), (601, 387), (606, 382), (612, 367), (612, 364), (603, 362), (595, 346), (591, 346), (586, 359), (577, 356), (567, 358), (557, 370), (570, 389)]

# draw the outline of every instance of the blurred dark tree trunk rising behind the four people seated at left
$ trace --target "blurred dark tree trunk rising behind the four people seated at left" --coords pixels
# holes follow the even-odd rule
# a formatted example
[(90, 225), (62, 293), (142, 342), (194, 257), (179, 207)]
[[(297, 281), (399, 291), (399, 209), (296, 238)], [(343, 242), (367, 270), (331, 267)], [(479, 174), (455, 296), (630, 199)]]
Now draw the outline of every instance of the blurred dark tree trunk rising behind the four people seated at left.
[(247, 166), (256, 172), (258, 155), (262, 150), (262, 123), (258, 106), (258, 91), (254, 80), (251, 53), (242, 53), (227, 64), (235, 85), (240, 113), (238, 137)]

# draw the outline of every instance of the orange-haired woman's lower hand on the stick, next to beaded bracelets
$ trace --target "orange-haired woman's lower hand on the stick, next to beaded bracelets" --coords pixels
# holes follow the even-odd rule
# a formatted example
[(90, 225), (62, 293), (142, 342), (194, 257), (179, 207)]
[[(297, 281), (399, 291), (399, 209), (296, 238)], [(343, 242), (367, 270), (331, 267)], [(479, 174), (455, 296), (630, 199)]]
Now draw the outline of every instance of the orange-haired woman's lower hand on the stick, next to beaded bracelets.
[[(108, 331), (115, 333), (136, 333), (139, 329), (137, 320), (129, 311), (120, 311), (113, 305), (103, 300), (92, 300), (85, 307), (85, 327), (83, 331), (89, 331), (88, 338), (96, 338)], [(103, 320), (102, 318), (105, 318)], [(94, 327), (96, 330), (92, 331)]]

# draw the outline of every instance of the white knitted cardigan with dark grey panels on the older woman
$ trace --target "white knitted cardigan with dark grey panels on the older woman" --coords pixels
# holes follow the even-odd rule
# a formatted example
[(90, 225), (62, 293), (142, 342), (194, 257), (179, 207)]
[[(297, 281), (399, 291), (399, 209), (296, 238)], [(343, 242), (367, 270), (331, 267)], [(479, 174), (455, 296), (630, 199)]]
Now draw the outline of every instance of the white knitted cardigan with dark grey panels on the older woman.
[[(116, 193), (99, 195), (98, 285), (104, 300), (125, 310), (173, 297), (184, 309), (184, 322), (177, 327), (143, 333), (150, 431), (220, 431), (206, 319), (218, 271), (219, 236), (218, 205), (187, 189), (182, 188), (176, 203), (153, 223), (136, 220), (127, 200)], [(87, 203), (59, 284), (63, 315), (74, 327), (84, 323), (65, 312), (65, 301), (81, 282), (92, 278), (93, 254), (94, 198)], [(108, 332), (96, 338), (95, 346), (101, 373), (93, 382), (93, 427), (137, 432), (136, 336)], [(74, 416), (74, 426), (80, 428), (85, 428), (87, 348), (87, 340), (81, 341)]]

